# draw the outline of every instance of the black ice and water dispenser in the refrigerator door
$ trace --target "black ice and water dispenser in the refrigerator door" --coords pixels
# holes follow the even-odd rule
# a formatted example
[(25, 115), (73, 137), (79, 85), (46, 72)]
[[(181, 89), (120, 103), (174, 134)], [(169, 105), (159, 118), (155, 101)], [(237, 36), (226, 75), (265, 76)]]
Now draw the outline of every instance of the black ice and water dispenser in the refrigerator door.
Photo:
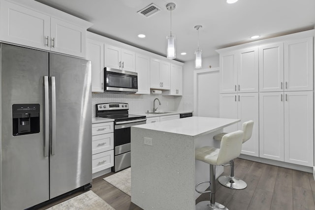
[(39, 133), (39, 104), (12, 105), (13, 136)]

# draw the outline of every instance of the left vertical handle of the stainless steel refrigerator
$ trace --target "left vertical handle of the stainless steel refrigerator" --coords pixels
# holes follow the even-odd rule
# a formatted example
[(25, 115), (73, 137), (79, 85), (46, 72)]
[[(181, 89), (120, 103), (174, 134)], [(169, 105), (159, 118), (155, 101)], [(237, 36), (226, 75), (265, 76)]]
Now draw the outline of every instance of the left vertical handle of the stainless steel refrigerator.
[(45, 145), (44, 145), (44, 157), (49, 155), (49, 84), (48, 76), (44, 76), (45, 87)]

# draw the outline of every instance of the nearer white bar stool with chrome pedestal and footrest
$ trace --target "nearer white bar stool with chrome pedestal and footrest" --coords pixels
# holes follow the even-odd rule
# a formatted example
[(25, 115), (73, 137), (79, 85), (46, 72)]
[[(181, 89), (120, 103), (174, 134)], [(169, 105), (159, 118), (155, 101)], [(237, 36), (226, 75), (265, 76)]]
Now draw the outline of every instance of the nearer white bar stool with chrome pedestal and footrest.
[[(220, 149), (206, 146), (195, 150), (195, 159), (210, 164), (210, 181), (201, 181), (196, 184), (198, 193), (210, 192), (210, 202), (202, 201), (196, 204), (196, 210), (228, 210), (223, 205), (216, 203), (216, 166), (220, 166), (241, 154), (244, 132), (241, 130), (227, 133), (222, 136)], [(199, 184), (209, 182), (210, 190), (199, 191)]]

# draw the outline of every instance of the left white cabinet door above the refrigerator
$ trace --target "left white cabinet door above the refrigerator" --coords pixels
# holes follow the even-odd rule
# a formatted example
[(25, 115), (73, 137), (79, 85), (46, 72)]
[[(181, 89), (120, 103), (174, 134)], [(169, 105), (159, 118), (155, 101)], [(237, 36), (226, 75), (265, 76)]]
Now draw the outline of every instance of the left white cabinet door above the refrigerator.
[(50, 17), (40, 12), (1, 1), (2, 41), (50, 50)]

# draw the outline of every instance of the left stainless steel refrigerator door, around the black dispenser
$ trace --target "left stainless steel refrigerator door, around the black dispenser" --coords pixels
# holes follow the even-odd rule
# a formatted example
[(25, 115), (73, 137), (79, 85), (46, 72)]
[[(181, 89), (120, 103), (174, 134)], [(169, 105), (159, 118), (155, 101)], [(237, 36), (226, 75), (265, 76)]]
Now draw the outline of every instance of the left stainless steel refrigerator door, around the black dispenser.
[[(0, 48), (0, 209), (21, 210), (49, 199), (49, 157), (44, 155), (48, 53), (7, 44)], [(12, 135), (13, 104), (39, 104), (39, 133)]]

